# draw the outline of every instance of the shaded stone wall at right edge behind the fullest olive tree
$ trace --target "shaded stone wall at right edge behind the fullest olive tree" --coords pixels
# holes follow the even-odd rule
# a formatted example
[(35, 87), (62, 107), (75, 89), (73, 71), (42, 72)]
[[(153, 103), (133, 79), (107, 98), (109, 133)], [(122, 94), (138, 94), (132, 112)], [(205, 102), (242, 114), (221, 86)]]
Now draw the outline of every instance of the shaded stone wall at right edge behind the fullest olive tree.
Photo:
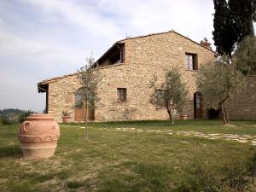
[(246, 87), (230, 102), (230, 119), (256, 120), (256, 76), (248, 76), (246, 82)]

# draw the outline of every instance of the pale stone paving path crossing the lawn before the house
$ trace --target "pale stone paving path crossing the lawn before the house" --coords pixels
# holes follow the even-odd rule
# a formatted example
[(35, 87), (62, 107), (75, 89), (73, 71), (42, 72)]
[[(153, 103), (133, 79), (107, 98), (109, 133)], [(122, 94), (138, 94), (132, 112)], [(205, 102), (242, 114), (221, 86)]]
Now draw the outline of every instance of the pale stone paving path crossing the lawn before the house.
[[(84, 129), (84, 126), (76, 126), (76, 125), (62, 125), (67, 127), (77, 127)], [(200, 132), (200, 131), (173, 131), (173, 130), (144, 130), (144, 129), (137, 129), (137, 128), (99, 128), (99, 130), (104, 131), (126, 131), (126, 132), (151, 132), (151, 133), (162, 133), (168, 135), (177, 135), (177, 136), (186, 136), (186, 137), (201, 137), (206, 139), (224, 139), (227, 141), (234, 141), (238, 143), (249, 143), (253, 146), (256, 146), (256, 136), (252, 135), (236, 135), (236, 134), (228, 134), (228, 133), (211, 133), (211, 132)]]

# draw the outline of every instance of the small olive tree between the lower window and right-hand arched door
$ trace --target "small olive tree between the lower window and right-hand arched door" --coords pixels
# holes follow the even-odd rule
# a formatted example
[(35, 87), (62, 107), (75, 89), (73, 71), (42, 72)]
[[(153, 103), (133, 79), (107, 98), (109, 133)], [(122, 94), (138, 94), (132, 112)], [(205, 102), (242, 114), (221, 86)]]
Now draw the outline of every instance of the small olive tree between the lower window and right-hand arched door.
[(177, 67), (172, 67), (166, 73), (163, 83), (157, 84), (157, 81), (156, 76), (154, 76), (150, 82), (150, 87), (154, 88), (150, 102), (165, 107), (170, 121), (174, 124), (172, 115), (175, 110), (181, 111), (183, 109), (187, 102), (188, 90), (181, 80), (181, 74)]

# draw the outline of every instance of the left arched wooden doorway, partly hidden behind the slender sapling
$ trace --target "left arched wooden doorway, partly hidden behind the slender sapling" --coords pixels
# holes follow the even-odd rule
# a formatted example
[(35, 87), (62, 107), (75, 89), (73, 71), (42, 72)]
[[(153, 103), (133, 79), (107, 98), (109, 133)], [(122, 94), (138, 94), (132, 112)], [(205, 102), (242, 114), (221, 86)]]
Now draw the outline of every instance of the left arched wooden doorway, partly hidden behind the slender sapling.
[[(75, 110), (74, 119), (77, 122), (82, 122), (85, 120), (86, 114), (86, 104), (83, 101), (82, 91), (79, 89), (75, 94)], [(95, 120), (95, 109), (91, 108), (87, 110), (88, 119)]]

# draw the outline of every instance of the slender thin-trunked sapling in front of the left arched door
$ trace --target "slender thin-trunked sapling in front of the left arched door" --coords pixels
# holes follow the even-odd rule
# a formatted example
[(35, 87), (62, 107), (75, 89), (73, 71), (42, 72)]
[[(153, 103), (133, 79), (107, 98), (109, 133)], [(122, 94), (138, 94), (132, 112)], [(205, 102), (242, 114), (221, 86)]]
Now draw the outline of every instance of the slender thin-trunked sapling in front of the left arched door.
[(78, 70), (78, 76), (77, 76), (79, 83), (81, 85), (81, 88), (79, 91), (81, 91), (82, 100), (84, 102), (84, 106), (86, 108), (85, 110), (85, 139), (88, 139), (88, 110), (92, 108), (97, 107), (97, 103), (99, 101), (99, 98), (97, 96), (97, 89), (99, 84), (102, 81), (102, 75), (99, 71), (99, 67), (94, 62), (93, 57), (86, 58), (86, 63), (84, 67), (81, 67)]

